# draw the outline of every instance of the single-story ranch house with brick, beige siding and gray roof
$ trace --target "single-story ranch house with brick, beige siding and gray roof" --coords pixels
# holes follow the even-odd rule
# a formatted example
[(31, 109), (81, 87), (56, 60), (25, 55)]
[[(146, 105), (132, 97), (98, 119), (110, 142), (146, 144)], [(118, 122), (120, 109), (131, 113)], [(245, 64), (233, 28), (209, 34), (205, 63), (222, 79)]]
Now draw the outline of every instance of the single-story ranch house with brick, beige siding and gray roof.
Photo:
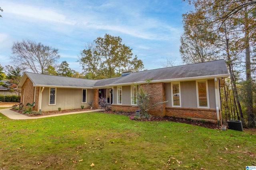
[(98, 107), (98, 97), (105, 97), (116, 111), (135, 111), (138, 107), (132, 97), (136, 96), (135, 84), (148, 86), (152, 101), (158, 103), (150, 114), (192, 119), (221, 121), (220, 87), (228, 77), (225, 61), (216, 60), (181, 65), (136, 73), (124, 73), (121, 77), (90, 80), (36, 73), (24, 73), (19, 89), (21, 103), (35, 102), (36, 111), (76, 109), (81, 105)]

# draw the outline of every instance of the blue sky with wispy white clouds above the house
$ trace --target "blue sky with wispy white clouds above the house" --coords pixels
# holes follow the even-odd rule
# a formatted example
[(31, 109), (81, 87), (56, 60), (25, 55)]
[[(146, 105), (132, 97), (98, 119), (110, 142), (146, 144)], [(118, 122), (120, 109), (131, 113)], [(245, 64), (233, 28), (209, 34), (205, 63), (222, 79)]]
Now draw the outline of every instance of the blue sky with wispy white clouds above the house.
[(0, 64), (11, 65), (13, 42), (33, 40), (59, 49), (60, 59), (81, 72), (78, 56), (97, 37), (120, 36), (144, 63), (182, 65), (182, 0), (0, 0)]

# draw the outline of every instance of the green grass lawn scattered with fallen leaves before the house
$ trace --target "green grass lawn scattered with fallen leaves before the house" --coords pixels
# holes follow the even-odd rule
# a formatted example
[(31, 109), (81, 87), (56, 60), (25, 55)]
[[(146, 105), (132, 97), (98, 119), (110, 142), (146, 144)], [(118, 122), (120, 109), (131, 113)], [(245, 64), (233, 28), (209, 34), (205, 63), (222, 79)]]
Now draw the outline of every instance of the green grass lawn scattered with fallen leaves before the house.
[(34, 120), (11, 120), (0, 114), (3, 170), (244, 170), (256, 164), (255, 152), (256, 135), (235, 130), (137, 122), (107, 113)]

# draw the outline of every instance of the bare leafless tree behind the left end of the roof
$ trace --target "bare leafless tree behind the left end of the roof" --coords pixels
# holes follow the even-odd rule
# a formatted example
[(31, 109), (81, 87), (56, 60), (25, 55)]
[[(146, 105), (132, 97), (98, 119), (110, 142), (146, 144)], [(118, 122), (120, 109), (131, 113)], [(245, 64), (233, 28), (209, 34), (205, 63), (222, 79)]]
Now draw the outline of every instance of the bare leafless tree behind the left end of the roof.
[(14, 42), (12, 45), (12, 62), (34, 73), (44, 73), (48, 66), (56, 65), (60, 58), (58, 49), (30, 40)]

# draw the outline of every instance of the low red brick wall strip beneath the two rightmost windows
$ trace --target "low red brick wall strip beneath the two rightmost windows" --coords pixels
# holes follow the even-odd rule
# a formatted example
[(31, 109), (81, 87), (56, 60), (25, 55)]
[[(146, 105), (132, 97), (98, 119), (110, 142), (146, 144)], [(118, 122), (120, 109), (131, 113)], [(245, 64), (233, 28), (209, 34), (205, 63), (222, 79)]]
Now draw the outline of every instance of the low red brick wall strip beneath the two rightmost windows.
[(217, 122), (216, 109), (166, 107), (166, 116), (192, 118), (194, 120), (204, 119), (213, 123)]

